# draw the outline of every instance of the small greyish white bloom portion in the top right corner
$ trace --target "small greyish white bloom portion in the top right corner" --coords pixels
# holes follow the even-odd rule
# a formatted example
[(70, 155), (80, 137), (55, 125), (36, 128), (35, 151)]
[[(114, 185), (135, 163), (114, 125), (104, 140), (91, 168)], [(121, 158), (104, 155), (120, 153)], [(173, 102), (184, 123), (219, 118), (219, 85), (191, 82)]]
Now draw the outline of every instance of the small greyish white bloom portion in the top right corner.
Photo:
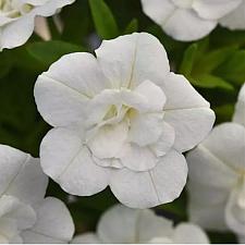
[(223, 16), (219, 23), (230, 29), (245, 29), (245, 1), (243, 0), (235, 10)]

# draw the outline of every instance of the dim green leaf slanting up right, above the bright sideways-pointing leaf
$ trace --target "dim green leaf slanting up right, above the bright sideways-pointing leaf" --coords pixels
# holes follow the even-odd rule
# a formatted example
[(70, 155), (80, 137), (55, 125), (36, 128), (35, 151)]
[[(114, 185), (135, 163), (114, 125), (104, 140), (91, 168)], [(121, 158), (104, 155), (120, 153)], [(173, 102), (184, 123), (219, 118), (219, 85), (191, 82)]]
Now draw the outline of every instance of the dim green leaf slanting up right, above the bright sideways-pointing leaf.
[(220, 48), (203, 56), (195, 64), (194, 73), (211, 73), (216, 68), (229, 59), (235, 52), (237, 46)]

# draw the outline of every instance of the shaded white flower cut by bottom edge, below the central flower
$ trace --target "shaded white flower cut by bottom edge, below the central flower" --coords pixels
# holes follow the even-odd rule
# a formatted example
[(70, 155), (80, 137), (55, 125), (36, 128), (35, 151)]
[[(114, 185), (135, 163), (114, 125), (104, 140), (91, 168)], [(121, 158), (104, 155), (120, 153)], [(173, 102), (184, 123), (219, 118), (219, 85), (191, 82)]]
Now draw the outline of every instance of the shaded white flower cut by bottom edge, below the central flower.
[(74, 237), (72, 243), (209, 243), (205, 232), (192, 223), (173, 222), (150, 209), (115, 205), (100, 218), (96, 233)]

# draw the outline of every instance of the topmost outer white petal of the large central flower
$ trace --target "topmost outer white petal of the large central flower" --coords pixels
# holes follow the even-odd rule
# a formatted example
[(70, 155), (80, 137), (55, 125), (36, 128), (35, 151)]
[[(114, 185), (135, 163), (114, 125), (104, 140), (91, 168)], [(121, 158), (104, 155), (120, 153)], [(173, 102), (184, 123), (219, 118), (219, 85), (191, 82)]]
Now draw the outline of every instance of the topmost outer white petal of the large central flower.
[(147, 33), (103, 40), (96, 54), (114, 88), (134, 88), (146, 79), (161, 83), (170, 70), (164, 48)]

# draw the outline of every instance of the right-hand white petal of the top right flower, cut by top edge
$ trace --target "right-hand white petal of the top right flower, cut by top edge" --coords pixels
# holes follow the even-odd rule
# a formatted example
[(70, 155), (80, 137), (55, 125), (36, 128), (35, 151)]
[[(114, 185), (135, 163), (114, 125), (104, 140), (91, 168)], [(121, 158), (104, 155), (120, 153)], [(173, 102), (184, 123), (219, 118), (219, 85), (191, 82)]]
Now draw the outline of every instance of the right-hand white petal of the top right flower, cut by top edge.
[(199, 16), (208, 20), (218, 20), (233, 11), (242, 0), (195, 0), (193, 9)]

